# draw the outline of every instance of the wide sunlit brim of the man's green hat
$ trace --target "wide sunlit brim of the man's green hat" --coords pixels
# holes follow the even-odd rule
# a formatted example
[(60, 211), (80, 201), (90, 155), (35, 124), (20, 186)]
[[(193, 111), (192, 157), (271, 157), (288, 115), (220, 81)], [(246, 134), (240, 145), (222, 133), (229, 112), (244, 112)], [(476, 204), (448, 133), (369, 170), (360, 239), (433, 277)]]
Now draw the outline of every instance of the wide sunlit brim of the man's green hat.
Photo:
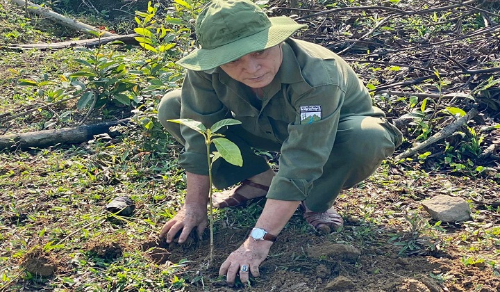
[(272, 26), (240, 40), (235, 40), (215, 49), (196, 49), (176, 63), (194, 71), (210, 70), (233, 60), (238, 60), (253, 51), (260, 51), (290, 38), (306, 24), (297, 24), (289, 17), (269, 17)]

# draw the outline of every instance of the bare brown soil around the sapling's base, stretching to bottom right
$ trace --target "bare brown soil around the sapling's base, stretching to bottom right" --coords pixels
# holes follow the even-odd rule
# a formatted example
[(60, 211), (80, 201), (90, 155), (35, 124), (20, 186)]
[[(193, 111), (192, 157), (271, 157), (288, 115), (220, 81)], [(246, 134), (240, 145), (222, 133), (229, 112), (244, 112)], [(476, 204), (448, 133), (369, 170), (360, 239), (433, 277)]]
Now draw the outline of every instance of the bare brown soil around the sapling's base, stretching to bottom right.
[[(349, 224), (349, 222), (347, 222)], [(153, 261), (160, 258), (174, 263), (192, 261), (188, 272), (205, 275), (208, 291), (244, 290), (217, 279), (219, 266), (247, 237), (247, 230), (218, 227), (215, 234), (214, 263), (207, 270), (208, 238), (187, 245), (145, 243)], [(382, 241), (381, 241), (382, 242)], [(251, 291), (500, 291), (500, 277), (487, 266), (463, 266), (462, 256), (453, 251), (441, 254), (405, 257), (394, 245), (352, 245), (335, 243), (330, 235), (301, 234), (285, 229), (272, 246), (269, 257), (260, 266), (260, 277), (251, 279)], [(448, 273), (456, 282), (441, 284), (429, 275)], [(201, 282), (188, 286), (188, 291), (201, 291)]]

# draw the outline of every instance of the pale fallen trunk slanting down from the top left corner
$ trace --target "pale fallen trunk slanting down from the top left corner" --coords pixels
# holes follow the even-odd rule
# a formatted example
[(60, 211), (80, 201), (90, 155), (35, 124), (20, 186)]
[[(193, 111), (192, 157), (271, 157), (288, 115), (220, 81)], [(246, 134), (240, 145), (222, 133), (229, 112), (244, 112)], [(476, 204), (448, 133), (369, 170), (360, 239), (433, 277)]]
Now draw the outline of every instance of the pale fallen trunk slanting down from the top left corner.
[(83, 31), (84, 33), (87, 34), (92, 34), (90, 31), (98, 31), (99, 33), (103, 33), (103, 36), (113, 36), (113, 33), (109, 33), (108, 31), (102, 31), (100, 29), (97, 29), (97, 27), (84, 24), (83, 22), (78, 22), (75, 19), (70, 19), (68, 17), (65, 17), (63, 15), (60, 15), (59, 13), (55, 13), (52, 10), (49, 10), (48, 8), (44, 8), (40, 5), (37, 5), (35, 3), (32, 3), (30, 1), (25, 1), (25, 0), (10, 0), (14, 3), (16, 3), (18, 6), (23, 6), (26, 7), (28, 6), (28, 9), (33, 10), (33, 12), (36, 15), (41, 15), (44, 17), (47, 17), (48, 19), (51, 19), (53, 22), (57, 22), (59, 24), (63, 24), (63, 26), (69, 27), (70, 29), (76, 29), (77, 31)]

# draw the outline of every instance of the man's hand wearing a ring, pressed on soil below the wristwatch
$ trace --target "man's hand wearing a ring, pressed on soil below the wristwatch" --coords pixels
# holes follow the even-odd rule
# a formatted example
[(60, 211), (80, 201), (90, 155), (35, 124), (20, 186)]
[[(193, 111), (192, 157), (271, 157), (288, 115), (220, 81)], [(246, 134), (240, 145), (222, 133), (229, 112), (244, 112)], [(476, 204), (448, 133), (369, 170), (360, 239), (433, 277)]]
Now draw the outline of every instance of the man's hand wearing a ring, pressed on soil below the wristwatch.
[[(231, 254), (222, 263), (219, 269), (219, 275), (226, 275), (226, 282), (229, 286), (235, 284), (236, 275), (240, 273), (240, 280), (243, 284), (247, 284), (249, 280), (249, 273), (253, 277), (258, 277), (259, 270), (258, 267), (262, 263), (267, 254), (269, 254), (269, 248), (271, 248), (271, 241), (254, 241), (251, 238), (247, 238), (246, 241)], [(241, 272), (240, 268), (242, 266), (248, 266), (249, 272)]]

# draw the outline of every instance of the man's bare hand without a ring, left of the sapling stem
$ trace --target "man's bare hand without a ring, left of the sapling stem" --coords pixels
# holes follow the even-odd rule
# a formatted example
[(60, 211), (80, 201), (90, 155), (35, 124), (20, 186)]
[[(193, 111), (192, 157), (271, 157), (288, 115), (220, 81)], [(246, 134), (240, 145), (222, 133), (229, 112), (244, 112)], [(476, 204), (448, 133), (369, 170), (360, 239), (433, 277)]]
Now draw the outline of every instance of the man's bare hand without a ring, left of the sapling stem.
[(208, 225), (207, 206), (199, 203), (185, 203), (174, 216), (170, 219), (160, 232), (160, 238), (167, 239), (167, 243), (174, 240), (177, 232), (182, 229), (181, 235), (178, 238), (178, 243), (183, 243), (188, 239), (191, 230), (197, 227), (198, 238), (201, 239), (203, 231)]

